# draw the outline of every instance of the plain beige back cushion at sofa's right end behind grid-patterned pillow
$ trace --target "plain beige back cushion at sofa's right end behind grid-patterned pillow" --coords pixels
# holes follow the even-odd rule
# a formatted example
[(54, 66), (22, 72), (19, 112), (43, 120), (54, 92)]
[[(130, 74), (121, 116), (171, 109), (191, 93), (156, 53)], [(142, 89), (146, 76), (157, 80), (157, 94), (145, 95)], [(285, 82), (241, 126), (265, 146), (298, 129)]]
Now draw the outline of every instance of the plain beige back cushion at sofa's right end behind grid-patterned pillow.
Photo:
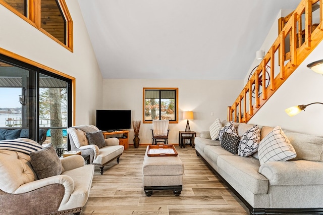
[(323, 137), (284, 131), (296, 151), (295, 160), (323, 162)]

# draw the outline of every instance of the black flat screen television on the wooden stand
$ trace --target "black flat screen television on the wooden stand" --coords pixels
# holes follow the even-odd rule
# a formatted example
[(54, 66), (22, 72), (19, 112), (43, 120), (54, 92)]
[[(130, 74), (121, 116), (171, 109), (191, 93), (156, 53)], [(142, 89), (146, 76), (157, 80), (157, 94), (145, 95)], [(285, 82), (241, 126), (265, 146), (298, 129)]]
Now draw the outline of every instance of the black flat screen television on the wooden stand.
[(131, 128), (131, 110), (96, 110), (96, 127), (102, 131)]

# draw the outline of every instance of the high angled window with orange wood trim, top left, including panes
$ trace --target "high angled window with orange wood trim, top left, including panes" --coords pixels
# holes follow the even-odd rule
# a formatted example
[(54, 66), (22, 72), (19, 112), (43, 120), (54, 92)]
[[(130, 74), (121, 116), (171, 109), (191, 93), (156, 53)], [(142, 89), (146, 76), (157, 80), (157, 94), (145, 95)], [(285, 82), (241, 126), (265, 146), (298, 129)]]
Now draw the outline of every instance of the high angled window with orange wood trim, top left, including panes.
[(73, 21), (65, 0), (0, 0), (0, 4), (73, 51)]

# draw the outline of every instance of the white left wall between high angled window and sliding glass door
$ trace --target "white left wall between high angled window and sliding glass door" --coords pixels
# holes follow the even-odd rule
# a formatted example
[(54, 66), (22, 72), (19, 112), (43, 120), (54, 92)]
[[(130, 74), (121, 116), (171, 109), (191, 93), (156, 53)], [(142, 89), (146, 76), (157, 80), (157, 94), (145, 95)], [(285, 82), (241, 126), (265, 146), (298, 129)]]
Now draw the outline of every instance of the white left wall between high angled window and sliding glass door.
[(76, 78), (76, 125), (95, 123), (102, 77), (78, 2), (66, 1), (74, 26), (74, 52), (0, 5), (0, 47)]

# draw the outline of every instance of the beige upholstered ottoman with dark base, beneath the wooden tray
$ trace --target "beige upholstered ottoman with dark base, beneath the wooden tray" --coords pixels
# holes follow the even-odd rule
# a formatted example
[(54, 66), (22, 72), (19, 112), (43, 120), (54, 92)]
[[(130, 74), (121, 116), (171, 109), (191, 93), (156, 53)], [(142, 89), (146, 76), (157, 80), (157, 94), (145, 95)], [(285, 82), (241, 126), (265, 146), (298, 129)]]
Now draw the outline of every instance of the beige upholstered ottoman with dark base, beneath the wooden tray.
[(143, 190), (151, 196), (153, 190), (173, 190), (179, 196), (183, 187), (184, 165), (177, 156), (148, 156), (146, 149), (142, 166)]

